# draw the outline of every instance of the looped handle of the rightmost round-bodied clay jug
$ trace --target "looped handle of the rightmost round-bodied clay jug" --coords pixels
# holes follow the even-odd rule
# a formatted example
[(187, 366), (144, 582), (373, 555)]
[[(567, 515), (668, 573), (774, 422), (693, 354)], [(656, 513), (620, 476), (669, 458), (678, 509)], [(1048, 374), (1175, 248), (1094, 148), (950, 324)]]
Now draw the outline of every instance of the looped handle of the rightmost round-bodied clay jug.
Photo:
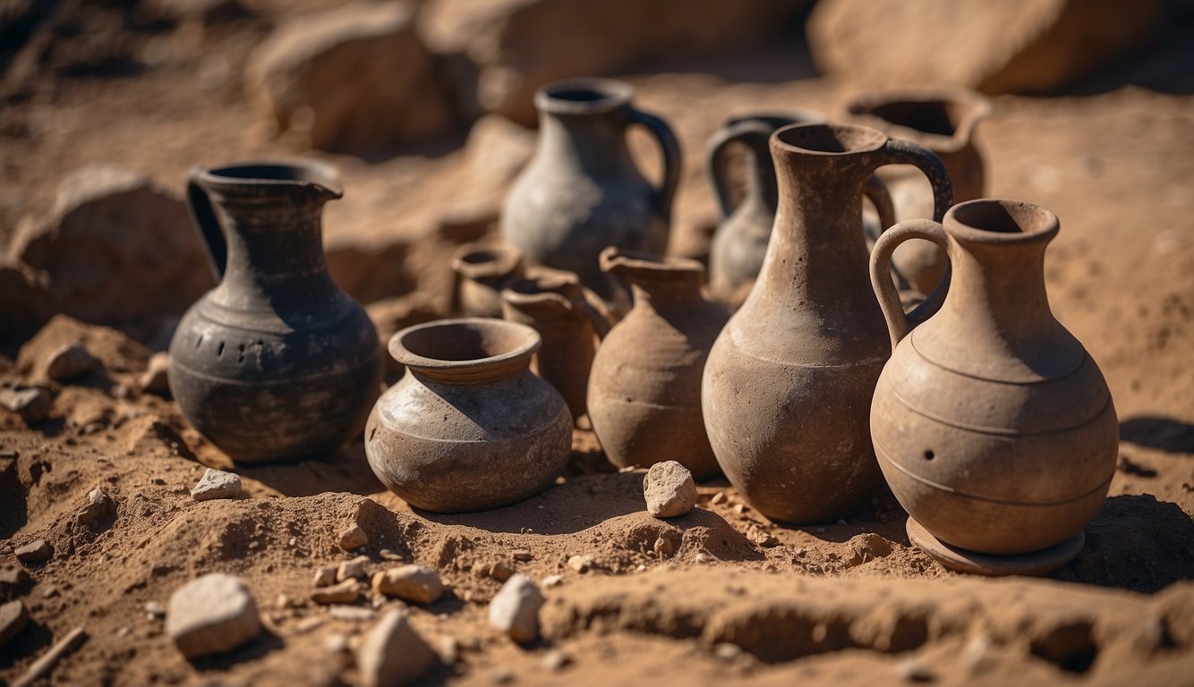
[(924, 239), (941, 246), (949, 253), (949, 237), (941, 224), (931, 219), (909, 219), (900, 222), (891, 229), (884, 231), (875, 241), (875, 247), (870, 252), (870, 286), (879, 297), (879, 305), (884, 310), (887, 320), (887, 330), (892, 336), (892, 351), (907, 333), (917, 324), (924, 322), (936, 312), (946, 299), (946, 291), (949, 289), (949, 267), (946, 268), (944, 277), (933, 290), (933, 293), (916, 307), (912, 312), (905, 315), (900, 304), (899, 292), (891, 277), (892, 253), (900, 243), (909, 239)]

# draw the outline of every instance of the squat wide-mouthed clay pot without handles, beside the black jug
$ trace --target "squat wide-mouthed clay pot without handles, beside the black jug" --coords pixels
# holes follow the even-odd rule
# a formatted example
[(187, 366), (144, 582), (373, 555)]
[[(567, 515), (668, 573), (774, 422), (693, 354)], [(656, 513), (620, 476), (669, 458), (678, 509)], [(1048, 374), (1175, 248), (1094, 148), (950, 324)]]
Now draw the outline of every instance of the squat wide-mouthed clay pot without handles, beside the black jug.
[(560, 394), (531, 375), (538, 334), (466, 317), (407, 327), (389, 353), (407, 375), (365, 425), (374, 474), (411, 506), (439, 513), (507, 506), (550, 485), (572, 447)]

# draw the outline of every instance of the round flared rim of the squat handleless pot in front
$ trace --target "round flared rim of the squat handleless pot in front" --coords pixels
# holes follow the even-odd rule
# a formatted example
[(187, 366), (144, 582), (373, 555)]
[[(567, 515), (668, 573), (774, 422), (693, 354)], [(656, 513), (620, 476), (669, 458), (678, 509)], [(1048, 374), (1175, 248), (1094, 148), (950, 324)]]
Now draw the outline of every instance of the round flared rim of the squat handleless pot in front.
[[(435, 334), (443, 335), (443, 340), (437, 340)], [(466, 340), (468, 335), (473, 340)], [(529, 363), (541, 345), (538, 332), (527, 324), (493, 317), (450, 317), (396, 332), (387, 349), (394, 360), (414, 370), (468, 372), (521, 359)], [(455, 357), (454, 346), (461, 353), (470, 353), (475, 347), (479, 354)], [(494, 351), (486, 354), (487, 346)]]

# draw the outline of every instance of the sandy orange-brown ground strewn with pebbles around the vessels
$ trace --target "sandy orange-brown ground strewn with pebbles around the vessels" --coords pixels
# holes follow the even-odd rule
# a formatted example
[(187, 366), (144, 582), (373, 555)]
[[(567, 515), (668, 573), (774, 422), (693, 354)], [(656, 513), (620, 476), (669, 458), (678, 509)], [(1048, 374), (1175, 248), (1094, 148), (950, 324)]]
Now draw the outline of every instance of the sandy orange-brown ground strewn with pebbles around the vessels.
[[(641, 105), (664, 113), (688, 151), (681, 235), (714, 221), (700, 151), (722, 119), (790, 107), (832, 113), (851, 93), (767, 54), (734, 60), (718, 73), (697, 64), (628, 75)], [(5, 233), (87, 162), (117, 162), (180, 187), (195, 163), (301, 153), (257, 132), (235, 80), (180, 78), (195, 68), (63, 80), (5, 113)], [(32, 615), (0, 648), (0, 679), (14, 680), (82, 626), (90, 639), (56, 667), (54, 683), (352, 683), (344, 639), (369, 623), (337, 619), (308, 596), (318, 567), (351, 557), (336, 534), (356, 520), (370, 534), (370, 571), (413, 561), (451, 584), (447, 599), (411, 609), (445, 656), (429, 681), (1190, 685), (1194, 98), (1115, 86), (996, 98), (979, 130), (989, 194), (1039, 203), (1061, 218), (1047, 254), (1051, 303), (1102, 367), (1121, 421), (1110, 496), (1083, 552), (1052, 580), (944, 571), (910, 546), (890, 494), (836, 525), (787, 527), (712, 482), (691, 514), (656, 520), (645, 512), (642, 474), (616, 472), (585, 432), (554, 487), (488, 513), (412, 510), (376, 482), (359, 442), (319, 460), (238, 469), (247, 499), (195, 502), (189, 491), (204, 466), (232, 464), (172, 402), (125, 392), (148, 352), (93, 328), (82, 335), (106, 373), (55, 386), (50, 419), (32, 426), (0, 410), (0, 564), (18, 565), (13, 550), (37, 538), (54, 549), (49, 562), (26, 567), (32, 581), (0, 587)], [(461, 143), (376, 161), (331, 157), (347, 192), (328, 208), (327, 241), (346, 227), (402, 231), (424, 191), (462, 163)], [(635, 150), (653, 165), (646, 141)], [(74, 332), (63, 322), (54, 329), (47, 338)], [(25, 354), (47, 345), (35, 341)], [(0, 373), (27, 379), (14, 361)], [(76, 514), (96, 487), (116, 512), (85, 525)], [(659, 538), (675, 544), (672, 556), (654, 553)], [(515, 550), (529, 559), (515, 561)], [(592, 569), (568, 568), (574, 555), (589, 556)], [(527, 648), (485, 621), (503, 567), (540, 581), (562, 575), (544, 589), (544, 638)], [(165, 605), (208, 571), (240, 575), (267, 631), (191, 663), (144, 606)]]

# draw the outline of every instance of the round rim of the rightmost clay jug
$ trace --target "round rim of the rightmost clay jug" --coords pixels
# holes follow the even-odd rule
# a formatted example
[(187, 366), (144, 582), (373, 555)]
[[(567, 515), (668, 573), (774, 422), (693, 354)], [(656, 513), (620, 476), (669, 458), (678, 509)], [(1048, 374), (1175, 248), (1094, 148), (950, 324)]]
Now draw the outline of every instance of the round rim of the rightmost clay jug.
[(1048, 242), (1061, 222), (1045, 208), (1024, 200), (979, 198), (959, 203), (946, 212), (942, 225), (965, 243), (1024, 245)]

